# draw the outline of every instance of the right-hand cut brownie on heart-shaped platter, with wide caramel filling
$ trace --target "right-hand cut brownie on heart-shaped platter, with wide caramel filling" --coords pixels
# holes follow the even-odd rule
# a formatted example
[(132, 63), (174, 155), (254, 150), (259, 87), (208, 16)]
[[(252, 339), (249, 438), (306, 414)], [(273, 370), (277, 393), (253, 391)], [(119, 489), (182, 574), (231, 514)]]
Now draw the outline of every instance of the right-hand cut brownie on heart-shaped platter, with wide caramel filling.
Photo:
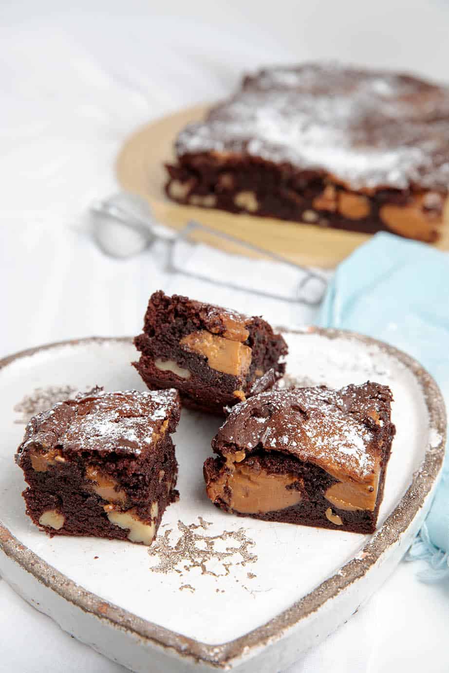
[(268, 521), (376, 529), (394, 425), (387, 386), (272, 390), (232, 409), (204, 465), (217, 507)]

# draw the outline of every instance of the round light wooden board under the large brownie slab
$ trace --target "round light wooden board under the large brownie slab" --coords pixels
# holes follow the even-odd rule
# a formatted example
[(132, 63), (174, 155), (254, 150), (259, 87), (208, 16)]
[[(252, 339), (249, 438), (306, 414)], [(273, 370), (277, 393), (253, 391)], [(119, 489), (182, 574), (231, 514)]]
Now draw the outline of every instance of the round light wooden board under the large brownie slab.
[[(180, 229), (194, 219), (298, 264), (323, 268), (335, 267), (370, 238), (368, 234), (320, 229), (316, 225), (271, 217), (234, 215), (170, 201), (164, 192), (167, 179), (164, 163), (174, 158), (173, 143), (177, 133), (189, 122), (201, 120), (208, 108), (206, 105), (195, 106), (151, 122), (133, 133), (118, 154), (116, 175), (120, 186), (127, 192), (145, 197), (159, 221)], [(446, 221), (449, 223), (448, 210)], [(449, 250), (449, 226), (437, 247)]]

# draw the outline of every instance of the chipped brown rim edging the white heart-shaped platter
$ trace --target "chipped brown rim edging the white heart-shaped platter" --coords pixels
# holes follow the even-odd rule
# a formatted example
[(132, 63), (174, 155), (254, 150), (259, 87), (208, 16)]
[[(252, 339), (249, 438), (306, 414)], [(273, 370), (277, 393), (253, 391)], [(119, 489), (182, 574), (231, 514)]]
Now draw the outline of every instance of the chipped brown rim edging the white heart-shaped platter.
[[(295, 332), (295, 330), (285, 329), (283, 331)], [(219, 670), (228, 669), (233, 662), (250, 658), (254, 651), (285, 635), (289, 629), (298, 625), (300, 621), (316, 612), (318, 608), (322, 608), (327, 602), (335, 599), (341, 591), (364, 577), (376, 564), (381, 563), (382, 556), (390, 546), (398, 544), (401, 535), (411, 526), (429, 493), (436, 485), (442, 469), (446, 445), (446, 411), (442, 393), (434, 379), (415, 359), (382, 341), (362, 336), (356, 332), (311, 327), (306, 330), (306, 333), (321, 334), (327, 339), (357, 340), (368, 346), (376, 346), (384, 353), (398, 359), (411, 371), (419, 383), (429, 415), (429, 429), (434, 431), (435, 437), (438, 437), (438, 441), (434, 441), (432, 445), (427, 444), (424, 458), (413, 474), (413, 479), (407, 491), (384, 524), (370, 536), (357, 558), (348, 561), (335, 575), (322, 581), (310, 594), (293, 603), (287, 610), (283, 610), (254, 631), (227, 643), (208, 645), (146, 621), (78, 586), (69, 577), (57, 571), (24, 546), (20, 540), (11, 534), (7, 526), (1, 523), (1, 520), (0, 551), (3, 551), (9, 559), (18, 563), (34, 575), (38, 581), (42, 582), (44, 586), (65, 598), (69, 603), (99, 618), (107, 619), (111, 625), (127, 631), (138, 639), (150, 641), (168, 652), (170, 650), (175, 651), (181, 659), (191, 660), (193, 658)], [(110, 344), (118, 342), (131, 343), (131, 337), (90, 337), (88, 339), (48, 344), (5, 357), (0, 360), (0, 369), (20, 359), (62, 345), (69, 347), (88, 343)]]

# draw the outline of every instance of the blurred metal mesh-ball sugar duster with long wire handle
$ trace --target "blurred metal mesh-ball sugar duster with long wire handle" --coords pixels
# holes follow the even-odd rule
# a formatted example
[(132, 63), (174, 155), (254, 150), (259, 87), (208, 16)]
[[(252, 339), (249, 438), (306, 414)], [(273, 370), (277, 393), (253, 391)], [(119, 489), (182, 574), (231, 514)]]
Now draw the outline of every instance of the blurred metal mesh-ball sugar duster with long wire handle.
[[(164, 241), (169, 246), (168, 271), (172, 273), (181, 273), (236, 289), (246, 289), (267, 297), (282, 298), (284, 301), (300, 302), (307, 306), (318, 306), (326, 290), (329, 275), (325, 271), (302, 267), (275, 252), (259, 248), (230, 234), (218, 232), (196, 221), (188, 222), (180, 231), (165, 227), (156, 221), (147, 201), (135, 194), (120, 192), (93, 203), (90, 207), (90, 225), (96, 244), (104, 254), (112, 258), (127, 259), (151, 248), (157, 241)], [(204, 271), (198, 266), (194, 270), (183, 268), (182, 263), (178, 262), (179, 256), (174, 254), (177, 244), (191, 246), (201, 244), (218, 250), (224, 247), (232, 252), (223, 254), (235, 255), (235, 250), (238, 250), (239, 256), (267, 258), (283, 264), (298, 272), (295, 295), (279, 297), (257, 287), (248, 289), (244, 285), (238, 285), (232, 278), (212, 279), (207, 275), (207, 267)]]

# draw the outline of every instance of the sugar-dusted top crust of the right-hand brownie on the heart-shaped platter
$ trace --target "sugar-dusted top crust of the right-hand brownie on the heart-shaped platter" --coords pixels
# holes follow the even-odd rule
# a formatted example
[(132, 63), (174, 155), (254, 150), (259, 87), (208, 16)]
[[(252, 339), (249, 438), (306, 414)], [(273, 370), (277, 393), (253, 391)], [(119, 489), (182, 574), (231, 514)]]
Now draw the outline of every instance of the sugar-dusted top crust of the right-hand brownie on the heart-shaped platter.
[(220, 440), (235, 441), (239, 448), (261, 445), (288, 452), (363, 481), (376, 470), (380, 440), (389, 439), (389, 409), (390, 391), (378, 384), (273, 390), (239, 404), (221, 429)]

